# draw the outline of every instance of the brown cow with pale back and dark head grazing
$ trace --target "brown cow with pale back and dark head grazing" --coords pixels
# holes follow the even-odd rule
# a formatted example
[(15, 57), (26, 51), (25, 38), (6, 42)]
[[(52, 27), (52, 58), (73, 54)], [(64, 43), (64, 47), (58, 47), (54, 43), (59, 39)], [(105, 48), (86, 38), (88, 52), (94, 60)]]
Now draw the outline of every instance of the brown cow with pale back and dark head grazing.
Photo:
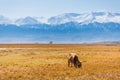
[(82, 63), (79, 61), (78, 56), (75, 53), (70, 53), (68, 58), (68, 67), (72, 67), (74, 64), (75, 68), (80, 68)]

